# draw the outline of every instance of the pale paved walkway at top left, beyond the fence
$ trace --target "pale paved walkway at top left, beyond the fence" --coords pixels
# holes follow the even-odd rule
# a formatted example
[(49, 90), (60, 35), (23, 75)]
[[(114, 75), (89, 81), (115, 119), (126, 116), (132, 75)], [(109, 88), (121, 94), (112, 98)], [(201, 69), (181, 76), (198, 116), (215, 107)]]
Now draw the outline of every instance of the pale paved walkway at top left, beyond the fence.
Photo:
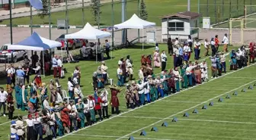
[[(114, 2), (117, 2), (120, 0), (114, 0)], [(91, 0), (84, 0), (85, 2), (85, 7), (89, 6), (91, 4)], [(101, 4), (111, 2), (111, 0), (101, 0)], [(74, 8), (82, 8), (82, 0), (76, 0), (76, 1), (69, 1), (68, 2), (68, 9), (74, 9)], [(59, 5), (52, 6), (51, 12), (56, 12), (56, 11), (66, 11), (66, 4), (60, 3)], [(0, 20), (6, 20), (9, 19), (10, 17), (10, 11), (0, 11)], [(37, 15), (38, 12), (32, 8), (32, 15)], [(25, 8), (16, 8), (12, 9), (12, 18), (18, 18), (18, 17), (28, 17), (30, 16), (30, 8), (25, 7)]]

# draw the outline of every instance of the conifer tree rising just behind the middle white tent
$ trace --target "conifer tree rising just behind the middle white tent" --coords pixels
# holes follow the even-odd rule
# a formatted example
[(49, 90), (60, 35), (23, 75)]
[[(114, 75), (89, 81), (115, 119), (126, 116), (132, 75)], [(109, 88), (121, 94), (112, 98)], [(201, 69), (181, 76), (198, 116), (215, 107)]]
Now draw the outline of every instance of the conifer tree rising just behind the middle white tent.
[(94, 21), (96, 24), (100, 22), (101, 18), (101, 8), (100, 8), (100, 0), (91, 0), (91, 14), (94, 16)]

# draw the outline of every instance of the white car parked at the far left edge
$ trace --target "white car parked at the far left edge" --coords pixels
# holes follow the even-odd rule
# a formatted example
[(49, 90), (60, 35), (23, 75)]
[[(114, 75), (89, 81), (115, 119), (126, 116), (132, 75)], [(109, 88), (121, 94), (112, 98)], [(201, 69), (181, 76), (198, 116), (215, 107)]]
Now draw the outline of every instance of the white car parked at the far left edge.
[[(2, 45), (2, 48), (0, 48), (0, 61), (1, 62), (12, 62), (16, 63), (18, 60), (23, 60), (24, 56), (27, 54), (27, 51), (24, 50), (8, 50), (8, 45), (10, 44), (5, 44)], [(12, 54), (12, 57), (11, 57)], [(13, 60), (11, 60), (13, 58)]]

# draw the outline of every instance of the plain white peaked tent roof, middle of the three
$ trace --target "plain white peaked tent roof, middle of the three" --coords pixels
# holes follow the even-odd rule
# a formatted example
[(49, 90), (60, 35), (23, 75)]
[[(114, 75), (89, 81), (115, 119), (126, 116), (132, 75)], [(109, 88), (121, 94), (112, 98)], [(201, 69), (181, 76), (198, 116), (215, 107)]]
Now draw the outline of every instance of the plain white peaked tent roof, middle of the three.
[(82, 30), (65, 35), (65, 39), (102, 39), (111, 36), (111, 33), (95, 29), (90, 23), (86, 23)]

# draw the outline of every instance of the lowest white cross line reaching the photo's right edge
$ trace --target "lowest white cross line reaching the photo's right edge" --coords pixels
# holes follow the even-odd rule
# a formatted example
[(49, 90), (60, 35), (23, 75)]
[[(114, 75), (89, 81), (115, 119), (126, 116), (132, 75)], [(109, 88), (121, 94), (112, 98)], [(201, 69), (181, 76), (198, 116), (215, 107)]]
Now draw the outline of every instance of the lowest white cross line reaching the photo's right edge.
[[(120, 117), (130, 117), (130, 118), (139, 118), (139, 119), (158, 119), (163, 120), (162, 117), (136, 117), (136, 116), (120, 116)], [(172, 120), (173, 118), (168, 118)], [(253, 122), (237, 122), (237, 121), (227, 121), (227, 120), (200, 120), (200, 119), (179, 119), (178, 120), (190, 120), (190, 121), (201, 121), (201, 122), (215, 122), (215, 123), (239, 123), (239, 124), (256, 124)]]

